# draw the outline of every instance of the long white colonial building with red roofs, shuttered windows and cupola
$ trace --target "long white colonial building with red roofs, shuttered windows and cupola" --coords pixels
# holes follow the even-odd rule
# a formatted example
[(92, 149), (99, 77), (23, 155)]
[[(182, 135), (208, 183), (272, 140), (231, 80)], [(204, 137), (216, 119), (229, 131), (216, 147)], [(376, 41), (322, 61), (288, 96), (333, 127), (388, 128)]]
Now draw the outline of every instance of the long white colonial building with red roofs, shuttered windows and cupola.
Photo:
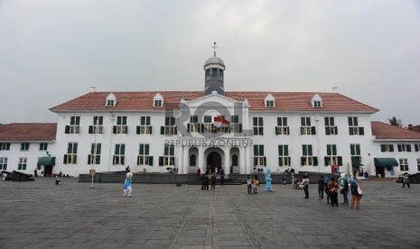
[[(225, 92), (225, 69), (216, 54), (207, 60), (203, 91), (92, 88), (51, 108), (58, 122), (46, 125), (54, 137), (14, 139), (9, 125), (19, 124), (2, 125), (0, 166), (70, 175), (124, 171), (127, 165), (132, 171), (180, 174), (222, 168), (227, 174), (288, 168), (351, 172), (363, 167), (370, 175), (390, 177), (420, 171), (420, 133), (372, 122), (378, 109), (338, 93)], [(387, 136), (389, 130), (404, 135)], [(55, 161), (41, 147), (23, 150), (23, 143), (48, 143)]]

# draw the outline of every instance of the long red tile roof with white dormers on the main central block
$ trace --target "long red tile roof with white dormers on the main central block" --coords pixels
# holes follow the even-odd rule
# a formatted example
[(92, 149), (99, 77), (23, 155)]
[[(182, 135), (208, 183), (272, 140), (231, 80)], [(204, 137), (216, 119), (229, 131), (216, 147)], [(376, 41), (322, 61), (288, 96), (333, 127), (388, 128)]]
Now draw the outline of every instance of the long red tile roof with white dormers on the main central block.
[[(113, 93), (117, 97), (117, 105), (107, 107), (106, 98)], [(163, 110), (153, 106), (153, 97), (156, 93), (163, 96), (165, 103), (180, 103), (181, 99), (195, 99), (203, 97), (202, 91), (153, 91), (153, 92), (93, 92), (59, 106), (54, 106), (52, 112), (65, 111), (138, 111)], [(266, 108), (264, 99), (267, 94), (275, 97), (275, 107)], [(322, 107), (313, 108), (311, 100), (315, 94), (322, 97)], [(350, 97), (338, 93), (315, 92), (226, 92), (226, 97), (235, 100), (247, 99), (250, 111), (284, 111), (284, 112), (343, 112), (343, 113), (376, 113), (377, 108), (362, 104)]]

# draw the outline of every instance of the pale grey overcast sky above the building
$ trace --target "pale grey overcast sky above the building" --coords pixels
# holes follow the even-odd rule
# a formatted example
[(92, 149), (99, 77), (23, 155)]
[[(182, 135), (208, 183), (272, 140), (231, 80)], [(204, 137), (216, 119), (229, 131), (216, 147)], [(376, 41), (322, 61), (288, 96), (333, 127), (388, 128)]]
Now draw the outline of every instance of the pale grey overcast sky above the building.
[(331, 92), (420, 124), (420, 1), (0, 0), (0, 123), (57, 122), (89, 92)]

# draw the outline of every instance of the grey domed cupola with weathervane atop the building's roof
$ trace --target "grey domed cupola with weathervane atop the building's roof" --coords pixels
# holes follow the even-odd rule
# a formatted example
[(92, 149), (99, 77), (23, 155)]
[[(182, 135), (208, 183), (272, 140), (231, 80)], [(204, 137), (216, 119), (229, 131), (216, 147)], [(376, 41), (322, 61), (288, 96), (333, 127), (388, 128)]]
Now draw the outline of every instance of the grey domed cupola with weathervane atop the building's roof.
[(214, 56), (206, 60), (204, 63), (205, 71), (205, 85), (204, 95), (210, 95), (211, 92), (216, 91), (219, 95), (225, 95), (225, 87), (223, 83), (223, 71), (226, 69), (225, 62), (216, 57), (216, 42), (214, 42)]

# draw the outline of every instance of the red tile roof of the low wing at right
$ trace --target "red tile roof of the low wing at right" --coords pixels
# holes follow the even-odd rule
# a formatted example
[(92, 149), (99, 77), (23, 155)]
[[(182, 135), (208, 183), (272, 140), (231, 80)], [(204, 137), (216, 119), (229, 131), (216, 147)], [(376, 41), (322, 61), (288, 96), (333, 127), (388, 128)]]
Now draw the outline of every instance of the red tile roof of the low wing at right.
[(391, 124), (382, 122), (371, 122), (372, 134), (376, 139), (407, 139), (420, 140), (420, 133), (400, 128)]

